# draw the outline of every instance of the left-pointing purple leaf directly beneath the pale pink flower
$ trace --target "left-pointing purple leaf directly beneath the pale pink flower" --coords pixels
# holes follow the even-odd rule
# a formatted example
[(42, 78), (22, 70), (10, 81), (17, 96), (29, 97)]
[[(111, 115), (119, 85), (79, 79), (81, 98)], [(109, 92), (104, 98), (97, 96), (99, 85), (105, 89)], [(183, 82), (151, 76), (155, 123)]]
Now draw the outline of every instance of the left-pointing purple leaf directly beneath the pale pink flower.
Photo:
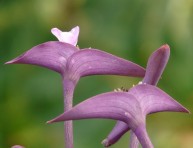
[(70, 44), (50, 41), (33, 47), (6, 64), (33, 64), (63, 73), (67, 58), (78, 49)]

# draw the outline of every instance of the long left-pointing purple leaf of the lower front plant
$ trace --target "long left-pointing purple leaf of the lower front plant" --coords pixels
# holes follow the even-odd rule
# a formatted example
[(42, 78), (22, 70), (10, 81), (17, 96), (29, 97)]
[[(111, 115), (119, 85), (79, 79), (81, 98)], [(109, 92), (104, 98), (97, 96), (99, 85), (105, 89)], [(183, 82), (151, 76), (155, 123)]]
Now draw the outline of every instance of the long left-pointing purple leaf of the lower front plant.
[(135, 114), (141, 114), (141, 109), (134, 96), (126, 92), (109, 92), (81, 102), (48, 123), (87, 118), (109, 118), (128, 122), (133, 120), (131, 117)]

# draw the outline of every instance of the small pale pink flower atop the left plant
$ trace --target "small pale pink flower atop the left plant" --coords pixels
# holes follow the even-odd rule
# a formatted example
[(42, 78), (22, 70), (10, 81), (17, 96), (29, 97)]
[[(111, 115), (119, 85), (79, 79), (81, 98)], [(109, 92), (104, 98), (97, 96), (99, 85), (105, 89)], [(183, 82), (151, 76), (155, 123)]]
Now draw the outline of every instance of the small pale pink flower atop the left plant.
[(55, 35), (57, 37), (57, 39), (60, 42), (69, 43), (73, 46), (76, 46), (76, 44), (78, 42), (78, 35), (79, 35), (79, 27), (78, 26), (72, 28), (72, 30), (69, 32), (62, 32), (58, 28), (52, 28), (51, 32), (53, 35)]

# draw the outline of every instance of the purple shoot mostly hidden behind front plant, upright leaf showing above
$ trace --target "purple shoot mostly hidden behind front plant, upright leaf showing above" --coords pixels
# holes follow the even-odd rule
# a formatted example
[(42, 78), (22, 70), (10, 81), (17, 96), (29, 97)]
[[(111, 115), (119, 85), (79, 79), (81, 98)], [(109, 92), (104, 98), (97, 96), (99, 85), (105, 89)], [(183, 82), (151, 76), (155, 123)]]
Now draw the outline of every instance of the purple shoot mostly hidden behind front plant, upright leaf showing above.
[[(163, 45), (159, 49), (157, 49), (152, 55), (149, 57), (145, 77), (141, 84), (150, 84), (157, 85), (163, 70), (168, 62), (170, 55), (170, 48), (168, 45)], [(129, 127), (121, 121), (118, 121), (114, 129), (107, 136), (105, 140), (103, 140), (104, 146), (110, 146), (117, 142), (123, 134), (125, 134), (129, 130)], [(138, 140), (135, 134), (131, 131), (131, 142), (130, 147), (135, 148), (138, 146)]]

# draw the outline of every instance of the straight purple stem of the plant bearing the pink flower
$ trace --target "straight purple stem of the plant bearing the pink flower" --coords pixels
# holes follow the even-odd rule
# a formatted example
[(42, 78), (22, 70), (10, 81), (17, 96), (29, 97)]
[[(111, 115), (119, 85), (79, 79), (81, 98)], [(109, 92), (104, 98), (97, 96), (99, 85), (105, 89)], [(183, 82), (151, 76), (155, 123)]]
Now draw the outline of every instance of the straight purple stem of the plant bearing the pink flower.
[[(64, 111), (68, 111), (72, 108), (73, 94), (76, 83), (71, 80), (63, 80), (63, 91), (64, 91)], [(65, 148), (73, 148), (73, 123), (72, 121), (64, 122), (64, 133), (65, 133)]]

